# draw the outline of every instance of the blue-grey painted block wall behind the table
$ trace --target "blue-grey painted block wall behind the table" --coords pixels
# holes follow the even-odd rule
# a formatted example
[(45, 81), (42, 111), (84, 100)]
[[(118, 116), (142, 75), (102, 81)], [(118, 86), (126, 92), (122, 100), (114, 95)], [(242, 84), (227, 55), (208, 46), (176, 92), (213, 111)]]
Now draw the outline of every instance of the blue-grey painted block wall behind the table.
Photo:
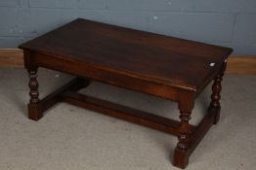
[(0, 48), (76, 17), (256, 54), (256, 0), (0, 0)]

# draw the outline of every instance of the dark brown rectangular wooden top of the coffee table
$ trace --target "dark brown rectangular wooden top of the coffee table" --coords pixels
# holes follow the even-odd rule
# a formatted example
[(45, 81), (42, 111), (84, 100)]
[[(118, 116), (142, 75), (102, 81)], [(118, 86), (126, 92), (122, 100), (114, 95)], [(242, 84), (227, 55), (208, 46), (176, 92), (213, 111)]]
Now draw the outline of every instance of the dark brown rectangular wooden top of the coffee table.
[(233, 51), (78, 18), (20, 46), (116, 74), (197, 90)]

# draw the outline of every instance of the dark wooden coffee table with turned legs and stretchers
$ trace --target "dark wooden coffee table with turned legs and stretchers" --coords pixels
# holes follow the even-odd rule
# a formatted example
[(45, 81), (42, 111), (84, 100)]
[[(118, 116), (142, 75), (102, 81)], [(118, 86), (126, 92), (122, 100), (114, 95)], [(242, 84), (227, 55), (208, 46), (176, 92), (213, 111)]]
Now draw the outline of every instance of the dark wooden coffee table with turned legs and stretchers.
[[(29, 73), (29, 119), (38, 120), (58, 102), (136, 122), (178, 136), (174, 166), (185, 168), (189, 156), (220, 118), (221, 82), (232, 49), (167, 37), (82, 18), (20, 46)], [(37, 68), (77, 78), (39, 99)], [(127, 108), (77, 91), (90, 80), (116, 85), (178, 103), (180, 121)], [(214, 80), (207, 114), (189, 123), (194, 100)], [(85, 124), (86, 125), (86, 124)]]

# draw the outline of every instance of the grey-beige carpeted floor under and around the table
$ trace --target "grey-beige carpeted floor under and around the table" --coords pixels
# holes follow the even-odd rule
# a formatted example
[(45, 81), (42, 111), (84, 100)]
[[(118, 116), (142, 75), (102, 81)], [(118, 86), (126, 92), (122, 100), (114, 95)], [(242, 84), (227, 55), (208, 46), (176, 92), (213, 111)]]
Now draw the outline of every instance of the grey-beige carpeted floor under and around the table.
[[(39, 70), (41, 97), (69, 75)], [(38, 122), (27, 119), (26, 72), (0, 69), (0, 170), (169, 170), (177, 139), (140, 125), (68, 104), (58, 104)], [(94, 83), (93, 96), (177, 119), (177, 104)], [(256, 76), (226, 76), (222, 114), (190, 159), (188, 170), (248, 169), (256, 166)], [(192, 113), (196, 124), (207, 108), (210, 86)], [(205, 112), (204, 112), (205, 113)]]

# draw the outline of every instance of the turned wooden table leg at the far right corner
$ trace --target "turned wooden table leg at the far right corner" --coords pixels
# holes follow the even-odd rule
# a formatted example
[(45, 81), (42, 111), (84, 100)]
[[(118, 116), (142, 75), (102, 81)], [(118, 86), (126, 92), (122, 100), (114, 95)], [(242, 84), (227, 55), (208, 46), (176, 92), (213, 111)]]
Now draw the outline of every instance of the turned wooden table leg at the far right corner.
[(226, 65), (227, 65), (227, 62), (224, 62), (223, 69), (221, 70), (220, 74), (214, 78), (214, 83), (212, 85), (212, 95), (211, 95), (211, 103), (209, 106), (209, 111), (213, 111), (213, 113), (215, 114), (214, 121), (213, 121), (214, 124), (217, 124), (220, 119), (220, 112), (221, 112), (220, 100), (221, 100), (221, 90), (222, 90), (221, 83), (223, 81)]

